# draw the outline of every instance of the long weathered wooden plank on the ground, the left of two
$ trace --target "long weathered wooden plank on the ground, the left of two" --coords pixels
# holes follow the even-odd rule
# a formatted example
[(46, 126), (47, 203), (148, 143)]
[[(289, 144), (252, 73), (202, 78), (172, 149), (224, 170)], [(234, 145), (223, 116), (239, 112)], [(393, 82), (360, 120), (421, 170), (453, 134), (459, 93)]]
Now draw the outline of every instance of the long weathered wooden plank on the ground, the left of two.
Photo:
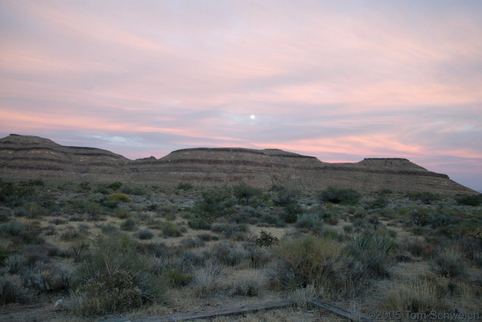
[[(177, 313), (177, 314), (170, 314), (170, 315), (153, 316), (148, 318), (131, 319), (130, 321), (131, 322), (174, 322), (174, 321), (186, 321), (186, 320), (194, 320), (194, 319), (208, 319), (208, 318), (214, 318), (214, 317), (223, 316), (223, 315), (235, 315), (235, 314), (256, 312), (260, 310), (269, 310), (269, 309), (293, 305), (294, 303), (295, 303), (294, 300), (283, 300), (283, 301), (276, 301), (276, 302), (267, 302), (263, 304), (231, 306), (231, 307), (216, 308), (216, 309), (204, 310), (204, 311), (198, 311), (198, 312)], [(113, 322), (113, 320), (107, 320), (104, 322)]]

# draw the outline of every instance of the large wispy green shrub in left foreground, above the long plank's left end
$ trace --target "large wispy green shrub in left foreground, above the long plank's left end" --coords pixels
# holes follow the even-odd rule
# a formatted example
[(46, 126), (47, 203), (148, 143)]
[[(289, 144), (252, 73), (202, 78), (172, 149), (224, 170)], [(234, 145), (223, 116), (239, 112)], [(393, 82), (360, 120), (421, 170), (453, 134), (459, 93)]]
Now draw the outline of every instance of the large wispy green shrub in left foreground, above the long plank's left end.
[(164, 291), (165, 280), (151, 274), (152, 266), (149, 257), (137, 253), (129, 237), (98, 238), (77, 269), (81, 285), (75, 293), (82, 297), (81, 310), (103, 314), (156, 301)]

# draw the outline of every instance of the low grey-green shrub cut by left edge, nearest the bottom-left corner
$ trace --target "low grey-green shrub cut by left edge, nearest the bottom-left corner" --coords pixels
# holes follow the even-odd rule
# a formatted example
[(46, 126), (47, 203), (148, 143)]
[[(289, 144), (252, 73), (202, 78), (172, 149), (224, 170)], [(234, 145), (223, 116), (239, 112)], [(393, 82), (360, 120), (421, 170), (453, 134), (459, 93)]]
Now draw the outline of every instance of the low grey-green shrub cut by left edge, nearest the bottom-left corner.
[(19, 303), (29, 304), (35, 300), (36, 294), (32, 289), (23, 285), (18, 275), (0, 275), (0, 305)]

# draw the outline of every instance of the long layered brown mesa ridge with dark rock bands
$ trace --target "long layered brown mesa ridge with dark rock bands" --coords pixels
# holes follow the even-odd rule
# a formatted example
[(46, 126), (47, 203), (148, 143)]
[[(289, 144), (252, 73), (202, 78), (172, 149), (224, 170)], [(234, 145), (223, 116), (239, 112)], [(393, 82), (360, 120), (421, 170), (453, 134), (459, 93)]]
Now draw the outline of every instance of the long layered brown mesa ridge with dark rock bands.
[(445, 174), (424, 169), (407, 159), (364, 159), (358, 163), (326, 163), (316, 157), (276, 149), (195, 148), (129, 160), (95, 148), (66, 147), (36, 136), (0, 139), (0, 177), (7, 179), (123, 181), (160, 186), (194, 185), (290, 186), (323, 189), (352, 187), (359, 191), (430, 191), (475, 193)]

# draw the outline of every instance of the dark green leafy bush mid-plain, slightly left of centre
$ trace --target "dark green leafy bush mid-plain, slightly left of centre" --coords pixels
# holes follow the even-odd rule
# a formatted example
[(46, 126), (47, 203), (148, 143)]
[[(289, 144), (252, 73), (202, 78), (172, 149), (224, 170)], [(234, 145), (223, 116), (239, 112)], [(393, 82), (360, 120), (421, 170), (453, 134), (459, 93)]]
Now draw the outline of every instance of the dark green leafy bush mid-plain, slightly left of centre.
[(201, 193), (201, 200), (196, 202), (195, 211), (199, 217), (213, 220), (229, 214), (233, 205), (229, 188), (216, 187)]

